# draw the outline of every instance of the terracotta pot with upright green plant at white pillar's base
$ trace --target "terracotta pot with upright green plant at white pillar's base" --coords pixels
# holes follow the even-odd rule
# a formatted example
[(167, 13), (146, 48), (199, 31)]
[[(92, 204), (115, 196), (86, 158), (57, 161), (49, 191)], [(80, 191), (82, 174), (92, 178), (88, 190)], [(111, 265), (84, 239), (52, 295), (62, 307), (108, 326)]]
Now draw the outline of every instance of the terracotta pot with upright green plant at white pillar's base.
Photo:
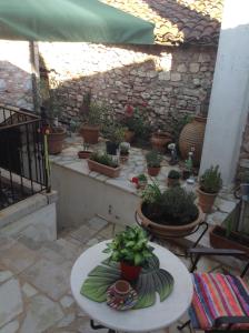
[(199, 180), (199, 205), (205, 213), (210, 213), (218, 192), (222, 186), (222, 179), (219, 172), (219, 165), (211, 165), (207, 169)]

